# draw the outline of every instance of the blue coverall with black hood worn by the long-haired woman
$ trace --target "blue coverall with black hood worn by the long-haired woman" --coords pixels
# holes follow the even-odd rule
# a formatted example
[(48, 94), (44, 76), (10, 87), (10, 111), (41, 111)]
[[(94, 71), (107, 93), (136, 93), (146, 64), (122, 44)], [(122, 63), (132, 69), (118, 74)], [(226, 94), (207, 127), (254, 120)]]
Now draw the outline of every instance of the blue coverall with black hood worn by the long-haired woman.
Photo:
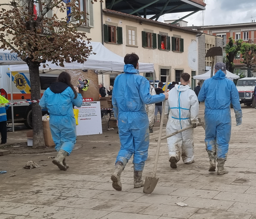
[(68, 155), (76, 143), (76, 120), (73, 105), (81, 107), (83, 98), (81, 94), (75, 94), (71, 87), (63, 82), (55, 82), (45, 90), (39, 105), (47, 109), (50, 114), (50, 129), (55, 149), (65, 150)]

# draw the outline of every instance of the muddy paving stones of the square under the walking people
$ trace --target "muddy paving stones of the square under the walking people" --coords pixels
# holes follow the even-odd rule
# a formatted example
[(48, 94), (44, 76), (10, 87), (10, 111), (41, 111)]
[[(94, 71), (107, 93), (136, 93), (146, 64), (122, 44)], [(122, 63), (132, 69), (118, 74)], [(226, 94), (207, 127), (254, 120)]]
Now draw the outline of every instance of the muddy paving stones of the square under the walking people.
[[(225, 163), (228, 174), (208, 172), (204, 130), (197, 127), (195, 163), (179, 161), (178, 168), (171, 169), (167, 141), (163, 141), (157, 169), (159, 182), (150, 195), (144, 194), (143, 188), (133, 188), (132, 162), (122, 173), (123, 190), (112, 188), (110, 176), (120, 147), (116, 129), (104, 128), (102, 135), (78, 136), (77, 146), (81, 148), (67, 158), (67, 171), (51, 163), (48, 156), (52, 155), (36, 151), (0, 156), (0, 169), (7, 170), (0, 175), (0, 219), (256, 219), (256, 110), (247, 106), (242, 109), (241, 126), (235, 126), (231, 109), (232, 137)], [(203, 110), (201, 103), (200, 116)], [(152, 174), (158, 127), (156, 123), (150, 134), (143, 177)], [(13, 135), (22, 139), (24, 133), (20, 133), (12, 134), (12, 141)], [(30, 160), (47, 166), (22, 169)], [(176, 202), (188, 206), (180, 207)]]

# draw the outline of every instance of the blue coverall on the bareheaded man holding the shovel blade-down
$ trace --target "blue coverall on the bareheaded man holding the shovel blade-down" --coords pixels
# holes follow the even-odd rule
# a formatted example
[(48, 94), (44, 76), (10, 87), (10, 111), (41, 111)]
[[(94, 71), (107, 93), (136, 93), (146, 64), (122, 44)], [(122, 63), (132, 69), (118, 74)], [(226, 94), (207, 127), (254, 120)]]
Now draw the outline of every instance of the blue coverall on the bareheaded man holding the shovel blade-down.
[(118, 120), (118, 131), (121, 149), (116, 162), (121, 161), (125, 167), (134, 155), (136, 171), (142, 171), (148, 158), (149, 119), (145, 104), (164, 101), (165, 95), (151, 96), (149, 81), (139, 75), (132, 64), (124, 66), (124, 73), (116, 77), (112, 93), (112, 104), (115, 119)]

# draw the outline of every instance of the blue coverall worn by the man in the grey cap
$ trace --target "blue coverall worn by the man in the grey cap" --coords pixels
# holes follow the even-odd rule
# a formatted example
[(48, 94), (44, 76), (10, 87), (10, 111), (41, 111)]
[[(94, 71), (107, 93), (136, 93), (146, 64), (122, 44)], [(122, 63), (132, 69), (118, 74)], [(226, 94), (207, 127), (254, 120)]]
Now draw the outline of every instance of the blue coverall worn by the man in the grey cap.
[(205, 102), (205, 145), (206, 150), (216, 152), (216, 159), (227, 159), (228, 143), (231, 136), (230, 103), (236, 118), (242, 117), (238, 90), (223, 71), (205, 80), (198, 100)]

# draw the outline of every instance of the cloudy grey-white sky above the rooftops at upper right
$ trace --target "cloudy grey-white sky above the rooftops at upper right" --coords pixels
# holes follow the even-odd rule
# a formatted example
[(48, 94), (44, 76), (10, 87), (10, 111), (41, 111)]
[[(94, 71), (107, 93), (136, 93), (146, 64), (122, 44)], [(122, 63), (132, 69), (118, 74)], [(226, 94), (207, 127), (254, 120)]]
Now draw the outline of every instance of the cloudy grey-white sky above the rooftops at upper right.
[[(249, 23), (256, 21), (256, 0), (205, 0), (204, 25)], [(158, 21), (178, 19), (190, 12), (165, 14)], [(203, 24), (203, 11), (184, 19), (188, 26)]]

